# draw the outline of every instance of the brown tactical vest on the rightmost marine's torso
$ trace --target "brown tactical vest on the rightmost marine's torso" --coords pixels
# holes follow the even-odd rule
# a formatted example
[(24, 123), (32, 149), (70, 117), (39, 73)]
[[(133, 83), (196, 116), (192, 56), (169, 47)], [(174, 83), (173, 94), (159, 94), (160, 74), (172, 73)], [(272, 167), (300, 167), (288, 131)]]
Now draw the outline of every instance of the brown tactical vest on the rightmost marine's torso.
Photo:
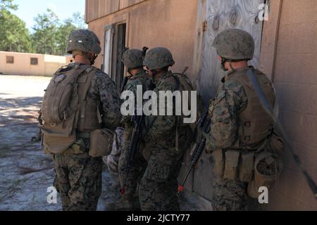
[[(275, 104), (275, 91), (271, 81), (259, 70), (254, 70), (254, 73), (263, 94), (268, 99), (268, 103), (271, 103), (273, 107)], [(249, 81), (247, 72), (232, 72), (225, 77), (225, 81), (235, 81), (242, 84), (248, 98), (247, 108), (238, 114), (240, 146), (250, 146), (266, 139), (272, 133), (274, 122), (263, 109), (259, 97)]]

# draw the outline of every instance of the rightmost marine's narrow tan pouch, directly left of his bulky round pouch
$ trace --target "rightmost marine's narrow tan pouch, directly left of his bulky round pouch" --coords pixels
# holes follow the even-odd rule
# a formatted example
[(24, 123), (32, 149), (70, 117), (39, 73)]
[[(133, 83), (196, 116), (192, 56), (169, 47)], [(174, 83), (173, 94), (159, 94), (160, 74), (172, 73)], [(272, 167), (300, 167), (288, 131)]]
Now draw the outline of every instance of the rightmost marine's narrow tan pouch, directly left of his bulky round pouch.
[(254, 171), (254, 153), (242, 153), (239, 178), (242, 182), (249, 182)]

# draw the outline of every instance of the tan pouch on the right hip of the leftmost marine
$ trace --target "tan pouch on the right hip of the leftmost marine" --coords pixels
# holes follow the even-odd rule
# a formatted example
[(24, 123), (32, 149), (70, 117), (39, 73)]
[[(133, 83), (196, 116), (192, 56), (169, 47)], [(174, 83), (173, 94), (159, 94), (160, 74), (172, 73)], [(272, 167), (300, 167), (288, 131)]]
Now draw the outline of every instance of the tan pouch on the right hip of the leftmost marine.
[(89, 155), (94, 158), (110, 155), (113, 136), (113, 131), (109, 129), (97, 129), (90, 132)]

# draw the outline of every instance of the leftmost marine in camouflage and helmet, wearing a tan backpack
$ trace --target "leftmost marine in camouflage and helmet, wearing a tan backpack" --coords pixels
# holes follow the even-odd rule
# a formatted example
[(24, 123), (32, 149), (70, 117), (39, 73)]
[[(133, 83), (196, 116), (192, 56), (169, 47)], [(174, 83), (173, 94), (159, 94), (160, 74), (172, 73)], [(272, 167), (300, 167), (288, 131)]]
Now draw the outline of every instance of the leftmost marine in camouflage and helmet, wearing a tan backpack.
[[(41, 108), (42, 146), (54, 156), (63, 210), (93, 211), (101, 195), (102, 158), (89, 156), (90, 134), (118, 127), (120, 96), (113, 80), (92, 66), (101, 52), (94, 32), (72, 32), (67, 51), (74, 58), (85, 57), (90, 65), (70, 63), (51, 80)], [(56, 109), (58, 113), (52, 113)]]

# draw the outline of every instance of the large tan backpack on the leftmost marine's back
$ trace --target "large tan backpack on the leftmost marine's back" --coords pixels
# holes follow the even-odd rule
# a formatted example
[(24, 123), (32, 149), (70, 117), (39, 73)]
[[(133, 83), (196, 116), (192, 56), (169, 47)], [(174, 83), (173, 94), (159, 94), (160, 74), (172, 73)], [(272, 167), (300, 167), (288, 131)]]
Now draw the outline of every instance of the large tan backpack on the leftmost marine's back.
[[(41, 108), (44, 151), (61, 153), (75, 142), (77, 111), (85, 105), (85, 98), (81, 96), (87, 95), (94, 77), (93, 70), (96, 69), (92, 66), (75, 64), (71, 70), (61, 68), (54, 74), (44, 94)], [(78, 93), (79, 77), (84, 73), (87, 74), (82, 76), (85, 78), (82, 82), (84, 88)]]

